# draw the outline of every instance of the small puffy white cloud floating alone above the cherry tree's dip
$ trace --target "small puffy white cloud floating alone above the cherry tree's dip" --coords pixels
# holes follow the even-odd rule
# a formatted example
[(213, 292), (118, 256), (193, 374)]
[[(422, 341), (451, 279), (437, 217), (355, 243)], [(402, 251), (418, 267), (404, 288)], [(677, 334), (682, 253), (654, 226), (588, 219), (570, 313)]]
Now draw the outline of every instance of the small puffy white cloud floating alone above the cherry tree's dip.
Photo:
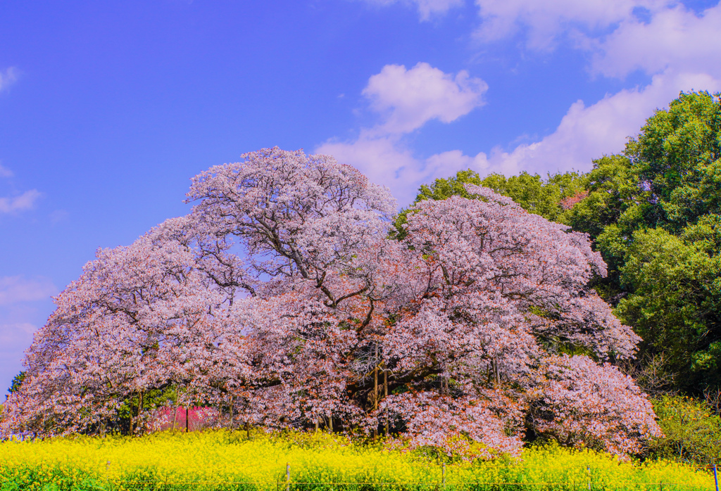
[(483, 104), (487, 89), (484, 81), (471, 78), (466, 71), (454, 76), (428, 63), (418, 63), (410, 70), (402, 65), (384, 66), (368, 80), (363, 95), (386, 118), (377, 132), (403, 133), (433, 119), (446, 123), (457, 120)]

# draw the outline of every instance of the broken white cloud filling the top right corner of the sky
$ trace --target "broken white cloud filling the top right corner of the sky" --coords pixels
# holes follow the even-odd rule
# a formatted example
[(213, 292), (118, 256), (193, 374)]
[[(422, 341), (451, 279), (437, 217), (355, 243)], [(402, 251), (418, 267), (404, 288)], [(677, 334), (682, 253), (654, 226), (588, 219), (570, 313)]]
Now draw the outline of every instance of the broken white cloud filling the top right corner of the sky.
[(477, 40), (523, 31), (528, 48), (548, 50), (568, 36), (593, 52), (591, 70), (623, 78), (641, 69), (715, 73), (721, 56), (721, 5), (700, 14), (676, 0), (476, 0)]

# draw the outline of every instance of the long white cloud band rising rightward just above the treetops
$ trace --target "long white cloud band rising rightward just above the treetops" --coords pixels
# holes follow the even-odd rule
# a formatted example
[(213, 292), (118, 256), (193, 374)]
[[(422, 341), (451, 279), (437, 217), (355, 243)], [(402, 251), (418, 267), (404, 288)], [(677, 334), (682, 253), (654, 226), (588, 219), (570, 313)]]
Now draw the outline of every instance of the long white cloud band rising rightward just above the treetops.
[(372, 181), (389, 186), (403, 205), (412, 201), (419, 184), (466, 168), (482, 176), (492, 172), (510, 176), (522, 171), (588, 171), (593, 159), (621, 152), (627, 138), (655, 109), (664, 107), (689, 87), (721, 90), (721, 79), (705, 73), (667, 72), (654, 76), (648, 86), (606, 95), (596, 104), (586, 106), (579, 100), (552, 134), (508, 151), (497, 147), (490, 153), (469, 156), (461, 150), (448, 150), (424, 159), (415, 157), (397, 138), (373, 138), (364, 132), (353, 143), (325, 143), (317, 150), (361, 168)]

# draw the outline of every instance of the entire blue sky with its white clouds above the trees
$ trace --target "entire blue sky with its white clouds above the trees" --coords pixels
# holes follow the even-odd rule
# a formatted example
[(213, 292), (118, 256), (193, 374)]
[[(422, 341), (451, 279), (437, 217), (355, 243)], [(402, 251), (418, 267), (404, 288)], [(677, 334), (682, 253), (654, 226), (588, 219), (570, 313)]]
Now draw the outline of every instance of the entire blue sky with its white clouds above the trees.
[(721, 89), (721, 6), (661, 0), (0, 5), (0, 390), (99, 247), (278, 145), (392, 189), (585, 171), (681, 90)]

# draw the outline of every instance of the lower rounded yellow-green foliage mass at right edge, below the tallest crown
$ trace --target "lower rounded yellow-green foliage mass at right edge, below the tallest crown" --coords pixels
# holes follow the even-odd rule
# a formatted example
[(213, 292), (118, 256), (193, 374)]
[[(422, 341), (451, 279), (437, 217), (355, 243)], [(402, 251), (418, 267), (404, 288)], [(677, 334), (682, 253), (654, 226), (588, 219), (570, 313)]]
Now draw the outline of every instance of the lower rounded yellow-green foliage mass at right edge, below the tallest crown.
[(699, 228), (721, 232), (716, 215), (683, 235), (662, 228), (634, 233), (621, 268), (629, 295), (616, 313), (643, 338), (645, 352), (663, 352), (681, 388), (721, 384), (721, 256), (696, 240)]

